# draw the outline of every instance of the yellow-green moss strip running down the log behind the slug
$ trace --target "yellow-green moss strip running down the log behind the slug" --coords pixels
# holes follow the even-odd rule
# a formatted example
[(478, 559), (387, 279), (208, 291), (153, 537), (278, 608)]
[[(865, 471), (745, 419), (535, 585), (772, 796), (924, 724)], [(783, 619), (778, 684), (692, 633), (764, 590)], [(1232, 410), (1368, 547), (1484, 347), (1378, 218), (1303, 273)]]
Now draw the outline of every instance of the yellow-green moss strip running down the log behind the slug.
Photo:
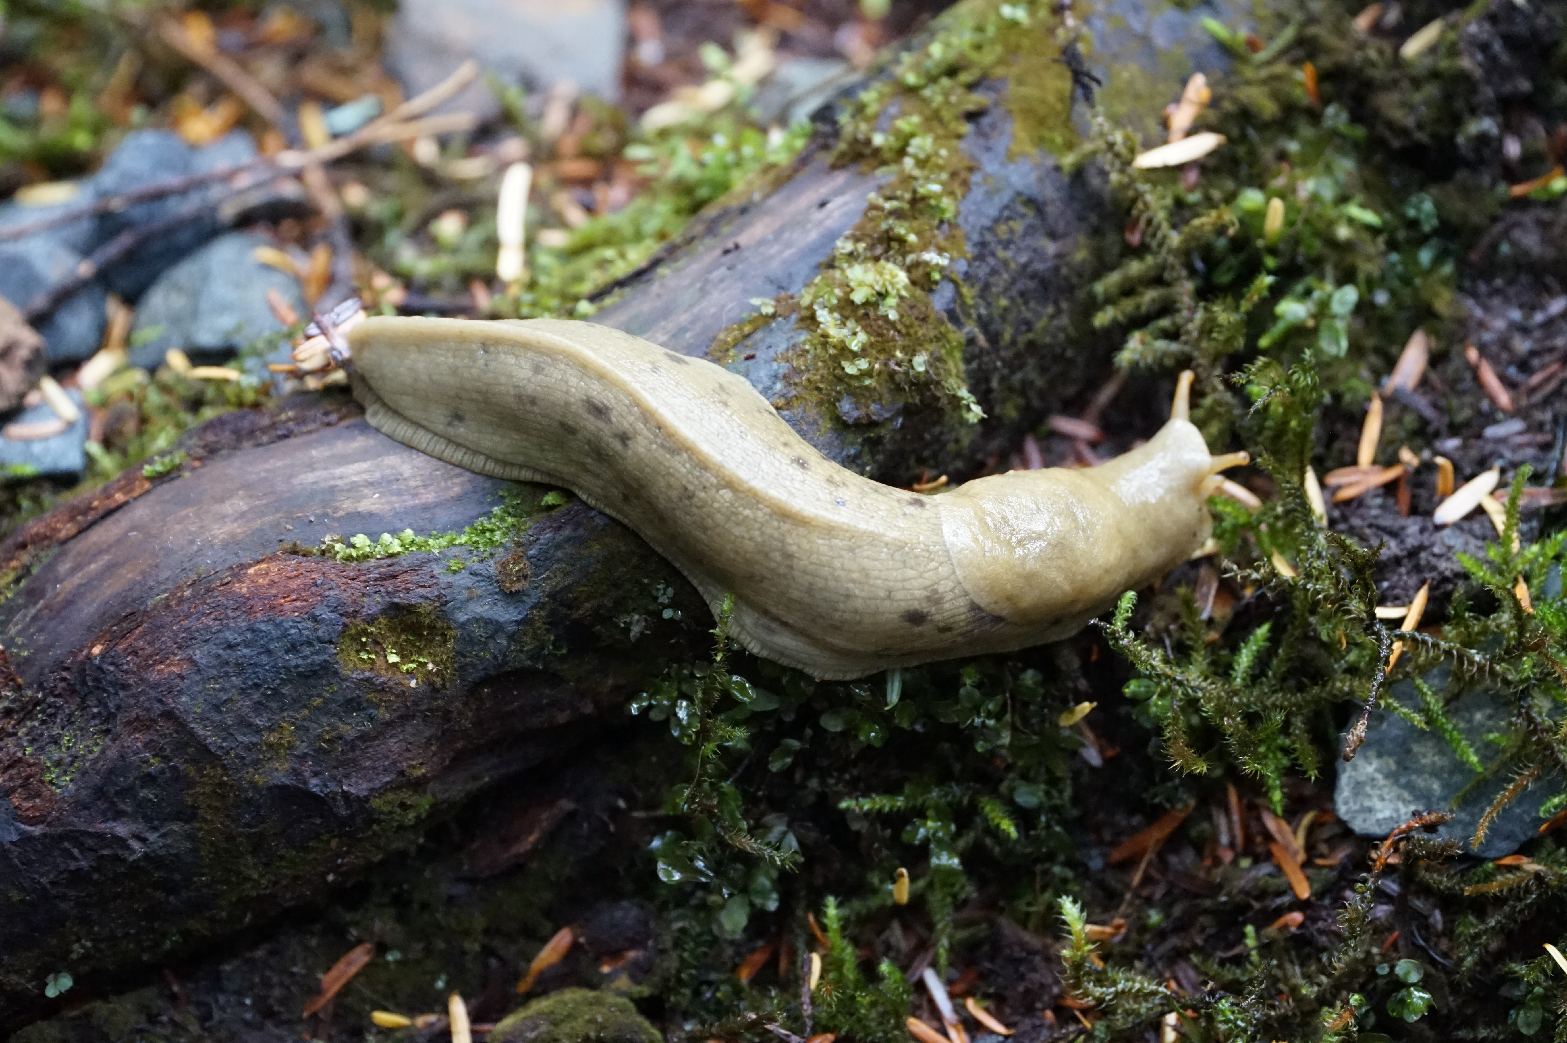
[(931, 294), (967, 257), (956, 224), (975, 160), (968, 117), (989, 99), (972, 88), (1015, 78), (1017, 147), (1070, 139), (1070, 74), (1051, 69), (1056, 20), (1022, 5), (962, 5), (843, 116), (835, 161), (888, 175), (799, 296), (805, 343), (794, 365), (820, 399), (860, 406), (935, 402), (984, 417), (964, 374), (964, 338)]

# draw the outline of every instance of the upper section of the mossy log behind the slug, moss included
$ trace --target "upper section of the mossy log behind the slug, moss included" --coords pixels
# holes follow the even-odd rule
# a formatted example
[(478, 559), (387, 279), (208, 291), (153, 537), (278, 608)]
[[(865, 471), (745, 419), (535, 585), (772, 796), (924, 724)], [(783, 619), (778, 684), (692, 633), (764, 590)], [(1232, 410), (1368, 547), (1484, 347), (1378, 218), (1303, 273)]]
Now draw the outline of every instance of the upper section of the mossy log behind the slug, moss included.
[(1086, 125), (1066, 44), (1152, 133), (1227, 63), (1203, 16), (1291, 8), (1116, 0), (1075, 38), (1045, 9), (959, 3), (816, 114), (788, 180), (732, 193), (594, 318), (740, 373), (846, 467), (973, 470), (1070, 412), (1119, 346), (1084, 293), (1125, 249), (1116, 208), (1094, 164), (1061, 164)]

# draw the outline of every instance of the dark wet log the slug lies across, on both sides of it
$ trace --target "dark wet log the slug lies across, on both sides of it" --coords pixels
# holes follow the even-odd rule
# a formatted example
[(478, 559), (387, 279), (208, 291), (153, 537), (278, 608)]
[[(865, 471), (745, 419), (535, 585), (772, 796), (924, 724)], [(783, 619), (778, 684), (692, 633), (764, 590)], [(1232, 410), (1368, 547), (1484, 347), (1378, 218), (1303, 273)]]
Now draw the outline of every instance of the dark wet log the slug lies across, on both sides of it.
[[(829, 456), (898, 484), (972, 473), (1080, 404), (1111, 351), (1084, 290), (1120, 227), (1092, 169), (1059, 166), (1070, 33), (1039, 9), (965, 74), (987, 103), (959, 113), (962, 191), (934, 229), (962, 249), (909, 298), (956, 337), (984, 420), (918, 387), (812, 376), (810, 316), (751, 304), (798, 301), (893, 177), (834, 161), (852, 96), (597, 321), (727, 362)], [(917, 47), (997, 17), (962, 5)], [(1109, 100), (1145, 125), (1221, 63), (1197, 16), (1158, 0), (1087, 25)], [(887, 124), (907, 102), (884, 92), (859, 119)], [(329, 894), (497, 780), (613, 742), (660, 661), (707, 642), (705, 608), (635, 534), (406, 449), (346, 399), (233, 413), (185, 453), (0, 548), (0, 1030), (56, 1002), (47, 974), (69, 971), (72, 999), (119, 983)], [(334, 534), (459, 532), (498, 506), (478, 550), (312, 553)]]

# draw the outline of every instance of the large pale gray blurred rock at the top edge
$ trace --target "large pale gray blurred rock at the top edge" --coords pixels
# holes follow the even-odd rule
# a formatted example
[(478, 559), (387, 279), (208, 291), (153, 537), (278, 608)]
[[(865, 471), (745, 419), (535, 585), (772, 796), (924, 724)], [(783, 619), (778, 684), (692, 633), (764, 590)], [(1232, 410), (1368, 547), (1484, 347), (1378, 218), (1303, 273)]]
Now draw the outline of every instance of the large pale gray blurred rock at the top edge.
[[(621, 96), (625, 0), (403, 0), (387, 33), (385, 61), (412, 97), (469, 58), (508, 83), (545, 89), (570, 80), (584, 94)], [(437, 111), (495, 116), (483, 80)]]

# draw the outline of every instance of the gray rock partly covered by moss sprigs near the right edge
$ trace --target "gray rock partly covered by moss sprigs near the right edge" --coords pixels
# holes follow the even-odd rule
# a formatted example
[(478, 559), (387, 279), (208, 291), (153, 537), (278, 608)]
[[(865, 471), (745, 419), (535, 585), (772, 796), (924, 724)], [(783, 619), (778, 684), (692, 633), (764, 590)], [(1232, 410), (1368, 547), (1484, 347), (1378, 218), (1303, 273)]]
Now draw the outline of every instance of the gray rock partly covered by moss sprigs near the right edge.
[[(1434, 672), (1428, 678), (1439, 692), (1445, 683), (1443, 673)], [(1412, 683), (1395, 684), (1391, 694), (1402, 705), (1420, 709), (1420, 695)], [(1448, 713), (1481, 760), (1490, 761), (1496, 747), (1484, 736), (1509, 730), (1512, 709), (1506, 700), (1495, 692), (1473, 692), (1451, 705)], [(1349, 828), (1363, 836), (1387, 836), (1417, 811), (1449, 810), (1456, 817), (1439, 833), (1459, 841), (1467, 850), (1481, 814), (1507, 786), (1511, 775), (1501, 772), (1478, 786), (1462, 803), (1451, 807), (1453, 797), (1473, 780), (1475, 772), (1440, 734), (1421, 731), (1384, 709), (1373, 709), (1365, 744), (1355, 760), (1338, 767), (1334, 810)], [(1543, 778), (1503, 808), (1475, 854), (1500, 858), (1534, 836), (1542, 822), (1539, 808), (1561, 789), (1559, 783), (1558, 775)]]

